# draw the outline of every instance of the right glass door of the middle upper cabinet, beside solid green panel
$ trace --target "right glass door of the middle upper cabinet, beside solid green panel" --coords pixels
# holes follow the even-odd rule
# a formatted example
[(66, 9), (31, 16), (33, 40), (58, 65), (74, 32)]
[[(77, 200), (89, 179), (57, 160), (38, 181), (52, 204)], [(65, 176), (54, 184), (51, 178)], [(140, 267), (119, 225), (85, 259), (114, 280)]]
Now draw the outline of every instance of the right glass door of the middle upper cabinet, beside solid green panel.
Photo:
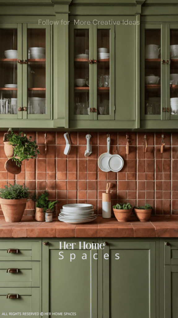
[[(97, 41), (95, 34), (97, 32)], [(94, 25), (94, 64), (93, 77), (97, 78), (97, 84), (94, 85), (94, 102), (97, 93), (97, 107), (93, 113), (94, 119), (112, 120), (114, 119), (114, 64), (115, 64), (115, 48), (114, 48), (114, 25)], [(95, 62), (97, 56), (97, 62)], [(95, 65), (97, 63), (97, 65)], [(96, 70), (97, 68), (97, 70)], [(97, 74), (95, 73), (97, 71)], [(97, 92), (96, 92), (97, 87)], [(96, 105), (96, 104), (95, 104)], [(94, 107), (95, 107), (94, 105)]]

